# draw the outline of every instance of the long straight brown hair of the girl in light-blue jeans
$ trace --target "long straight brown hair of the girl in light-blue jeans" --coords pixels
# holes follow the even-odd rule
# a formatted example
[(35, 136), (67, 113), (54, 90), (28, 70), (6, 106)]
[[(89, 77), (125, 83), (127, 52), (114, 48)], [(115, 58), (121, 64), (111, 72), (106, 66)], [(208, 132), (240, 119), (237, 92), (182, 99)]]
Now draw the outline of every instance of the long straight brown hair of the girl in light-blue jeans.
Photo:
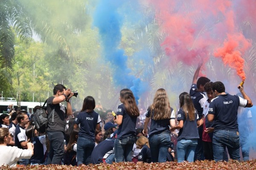
[(183, 109), (186, 119), (189, 117), (189, 121), (195, 120), (195, 108), (191, 99), (191, 96), (187, 92), (183, 92), (179, 96), (180, 108)]

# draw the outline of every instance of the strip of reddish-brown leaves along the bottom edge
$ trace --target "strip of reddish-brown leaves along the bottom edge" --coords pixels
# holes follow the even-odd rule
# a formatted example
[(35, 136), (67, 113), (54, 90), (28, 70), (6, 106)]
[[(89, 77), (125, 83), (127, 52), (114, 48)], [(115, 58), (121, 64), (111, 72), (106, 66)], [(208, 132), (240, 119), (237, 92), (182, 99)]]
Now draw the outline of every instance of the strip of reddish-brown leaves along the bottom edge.
[(193, 163), (166, 162), (151, 164), (134, 164), (128, 162), (114, 164), (90, 164), (84, 167), (72, 167), (66, 165), (33, 165), (26, 167), (0, 167), (0, 170), (256, 170), (256, 159), (251, 161), (196, 161)]

